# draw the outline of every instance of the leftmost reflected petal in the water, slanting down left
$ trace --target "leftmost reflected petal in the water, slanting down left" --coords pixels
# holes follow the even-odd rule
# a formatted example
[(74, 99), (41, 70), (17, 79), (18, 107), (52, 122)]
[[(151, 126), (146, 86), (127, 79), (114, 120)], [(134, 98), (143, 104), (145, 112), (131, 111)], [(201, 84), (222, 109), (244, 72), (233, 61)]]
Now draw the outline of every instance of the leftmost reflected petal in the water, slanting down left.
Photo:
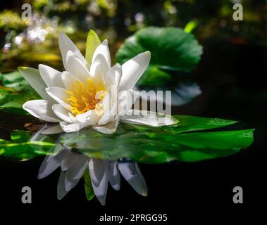
[(38, 178), (42, 179), (56, 170), (61, 165), (61, 160), (69, 150), (61, 150), (57, 155), (47, 155), (39, 168)]

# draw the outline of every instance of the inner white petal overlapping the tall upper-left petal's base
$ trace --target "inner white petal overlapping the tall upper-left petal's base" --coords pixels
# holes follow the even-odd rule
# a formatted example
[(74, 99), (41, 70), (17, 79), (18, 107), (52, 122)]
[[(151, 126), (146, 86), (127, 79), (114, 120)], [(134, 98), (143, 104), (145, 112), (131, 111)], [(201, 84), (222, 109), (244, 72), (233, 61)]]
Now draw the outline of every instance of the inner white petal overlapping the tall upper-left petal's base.
[(77, 58), (77, 55), (75, 55), (75, 53), (72, 51), (68, 51), (66, 60), (67, 71), (75, 75), (78, 79), (86, 84), (87, 78), (90, 78), (91, 75), (82, 61)]

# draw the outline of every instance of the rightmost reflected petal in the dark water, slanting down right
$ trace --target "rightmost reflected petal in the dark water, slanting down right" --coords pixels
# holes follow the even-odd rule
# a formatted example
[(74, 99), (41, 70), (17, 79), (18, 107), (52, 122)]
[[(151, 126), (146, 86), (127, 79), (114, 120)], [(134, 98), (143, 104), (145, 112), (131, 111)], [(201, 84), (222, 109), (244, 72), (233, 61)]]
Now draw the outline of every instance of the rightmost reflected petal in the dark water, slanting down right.
[(147, 184), (136, 162), (120, 162), (118, 169), (137, 193), (147, 196)]

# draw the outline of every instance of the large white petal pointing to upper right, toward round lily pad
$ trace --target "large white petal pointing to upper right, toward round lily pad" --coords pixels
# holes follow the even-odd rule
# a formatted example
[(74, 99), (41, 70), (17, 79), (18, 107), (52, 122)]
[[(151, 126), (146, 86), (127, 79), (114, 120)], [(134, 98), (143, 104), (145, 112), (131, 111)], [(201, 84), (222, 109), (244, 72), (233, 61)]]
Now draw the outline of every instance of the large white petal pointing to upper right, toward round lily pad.
[(120, 91), (132, 89), (149, 65), (151, 53), (146, 51), (139, 53), (123, 64), (123, 75), (120, 79)]

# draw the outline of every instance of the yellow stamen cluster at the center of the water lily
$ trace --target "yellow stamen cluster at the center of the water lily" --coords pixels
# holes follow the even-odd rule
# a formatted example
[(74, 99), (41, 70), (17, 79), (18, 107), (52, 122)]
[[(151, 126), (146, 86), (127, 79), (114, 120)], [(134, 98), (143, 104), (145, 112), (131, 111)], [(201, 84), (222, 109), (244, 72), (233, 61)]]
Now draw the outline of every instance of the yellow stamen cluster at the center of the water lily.
[(95, 108), (101, 110), (101, 105), (97, 105), (97, 103), (107, 94), (106, 86), (102, 82), (96, 83), (89, 78), (87, 78), (87, 84), (75, 82), (72, 85), (72, 90), (67, 92), (70, 94), (70, 98), (67, 100), (73, 115), (85, 113)]

